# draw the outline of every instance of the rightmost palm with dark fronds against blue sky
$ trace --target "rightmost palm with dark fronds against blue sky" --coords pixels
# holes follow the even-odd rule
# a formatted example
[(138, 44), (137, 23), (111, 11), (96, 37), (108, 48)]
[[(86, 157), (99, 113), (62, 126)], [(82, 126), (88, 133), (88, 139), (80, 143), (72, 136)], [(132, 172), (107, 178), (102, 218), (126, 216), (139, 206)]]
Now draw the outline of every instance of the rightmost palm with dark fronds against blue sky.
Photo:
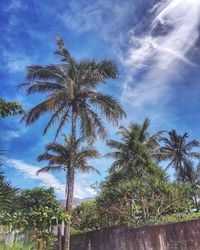
[(170, 161), (167, 168), (173, 166), (176, 170), (178, 179), (184, 173), (184, 166), (191, 159), (199, 159), (200, 153), (193, 151), (198, 148), (200, 143), (197, 140), (188, 141), (188, 133), (183, 135), (177, 134), (175, 130), (167, 132), (167, 136), (161, 136), (161, 145), (155, 152), (155, 156), (159, 160)]

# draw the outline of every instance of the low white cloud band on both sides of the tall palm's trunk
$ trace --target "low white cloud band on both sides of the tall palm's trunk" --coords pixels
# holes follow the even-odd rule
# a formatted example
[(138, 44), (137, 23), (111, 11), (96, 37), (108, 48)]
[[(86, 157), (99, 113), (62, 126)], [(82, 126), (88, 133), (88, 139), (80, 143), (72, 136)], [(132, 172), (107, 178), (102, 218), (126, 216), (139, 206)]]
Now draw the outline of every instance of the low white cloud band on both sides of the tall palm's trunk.
[[(40, 169), (40, 167), (27, 164), (24, 161), (17, 159), (8, 159), (6, 163), (8, 166), (20, 171), (24, 175), (24, 178), (37, 180), (40, 182), (40, 186), (53, 187), (60, 199), (65, 198), (65, 184), (59, 181), (55, 176), (53, 176), (53, 174), (41, 173), (37, 176), (36, 172)], [(84, 174), (76, 175), (74, 197), (86, 198), (96, 195), (95, 191), (90, 188), (86, 179), (86, 175)]]

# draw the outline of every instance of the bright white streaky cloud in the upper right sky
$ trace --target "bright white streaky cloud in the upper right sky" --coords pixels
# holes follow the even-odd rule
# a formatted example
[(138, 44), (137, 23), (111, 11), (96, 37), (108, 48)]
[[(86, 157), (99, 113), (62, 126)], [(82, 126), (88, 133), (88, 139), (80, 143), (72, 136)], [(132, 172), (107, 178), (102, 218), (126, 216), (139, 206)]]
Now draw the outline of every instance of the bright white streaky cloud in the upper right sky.
[(164, 103), (170, 98), (166, 93), (172, 92), (172, 80), (179, 77), (182, 63), (196, 67), (188, 53), (199, 38), (200, 1), (161, 1), (153, 11), (148, 32), (142, 36), (134, 29), (130, 32), (130, 48), (124, 60), (127, 79), (122, 100), (133, 107)]

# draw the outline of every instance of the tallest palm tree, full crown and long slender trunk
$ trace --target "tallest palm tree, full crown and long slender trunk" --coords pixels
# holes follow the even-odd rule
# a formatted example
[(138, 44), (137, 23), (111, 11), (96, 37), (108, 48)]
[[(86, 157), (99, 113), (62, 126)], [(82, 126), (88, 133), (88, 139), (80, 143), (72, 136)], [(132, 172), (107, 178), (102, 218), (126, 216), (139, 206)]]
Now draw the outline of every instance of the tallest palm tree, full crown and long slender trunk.
[[(113, 61), (95, 60), (76, 61), (71, 57), (62, 39), (57, 37), (58, 50), (62, 60), (58, 65), (32, 65), (27, 68), (27, 94), (45, 93), (46, 99), (31, 109), (23, 118), (30, 125), (45, 113), (52, 116), (47, 123), (44, 134), (55, 123), (59, 122), (55, 139), (65, 124), (71, 123), (71, 150), (68, 167), (68, 193), (66, 210), (72, 212), (74, 192), (74, 152), (77, 128), (81, 136), (94, 141), (96, 135), (106, 138), (106, 130), (102, 116), (117, 125), (119, 119), (125, 117), (125, 112), (119, 103), (110, 95), (97, 91), (100, 84), (107, 79), (118, 77), (118, 68)], [(67, 228), (68, 227), (68, 228)], [(70, 229), (65, 230), (65, 249), (69, 249)]]

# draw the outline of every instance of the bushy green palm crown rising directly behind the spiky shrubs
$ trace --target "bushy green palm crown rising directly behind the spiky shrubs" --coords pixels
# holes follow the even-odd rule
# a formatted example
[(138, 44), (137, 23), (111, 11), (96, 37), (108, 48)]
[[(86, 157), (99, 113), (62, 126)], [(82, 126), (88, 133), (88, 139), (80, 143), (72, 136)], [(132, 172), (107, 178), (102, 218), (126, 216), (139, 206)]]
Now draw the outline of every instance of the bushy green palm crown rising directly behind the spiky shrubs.
[(161, 132), (150, 135), (148, 132), (150, 121), (145, 119), (139, 125), (130, 123), (128, 128), (121, 126), (118, 134), (121, 135), (121, 141), (108, 140), (107, 144), (116, 151), (108, 153), (107, 157), (115, 158), (110, 172), (129, 169), (133, 165), (146, 165), (149, 160), (149, 153), (153, 154), (158, 146), (158, 138)]

